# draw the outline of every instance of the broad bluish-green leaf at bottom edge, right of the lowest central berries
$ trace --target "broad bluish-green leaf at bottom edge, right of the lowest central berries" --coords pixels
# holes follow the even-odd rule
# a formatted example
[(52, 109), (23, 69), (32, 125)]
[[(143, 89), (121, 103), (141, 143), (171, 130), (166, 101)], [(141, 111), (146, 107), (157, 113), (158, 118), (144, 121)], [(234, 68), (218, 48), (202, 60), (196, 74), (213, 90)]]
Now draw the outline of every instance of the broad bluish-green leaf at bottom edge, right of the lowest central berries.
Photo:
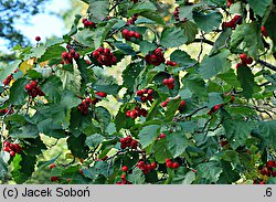
[(216, 161), (209, 161), (200, 163), (197, 167), (198, 173), (201, 178), (206, 179), (209, 183), (216, 182), (223, 172), (222, 168)]

